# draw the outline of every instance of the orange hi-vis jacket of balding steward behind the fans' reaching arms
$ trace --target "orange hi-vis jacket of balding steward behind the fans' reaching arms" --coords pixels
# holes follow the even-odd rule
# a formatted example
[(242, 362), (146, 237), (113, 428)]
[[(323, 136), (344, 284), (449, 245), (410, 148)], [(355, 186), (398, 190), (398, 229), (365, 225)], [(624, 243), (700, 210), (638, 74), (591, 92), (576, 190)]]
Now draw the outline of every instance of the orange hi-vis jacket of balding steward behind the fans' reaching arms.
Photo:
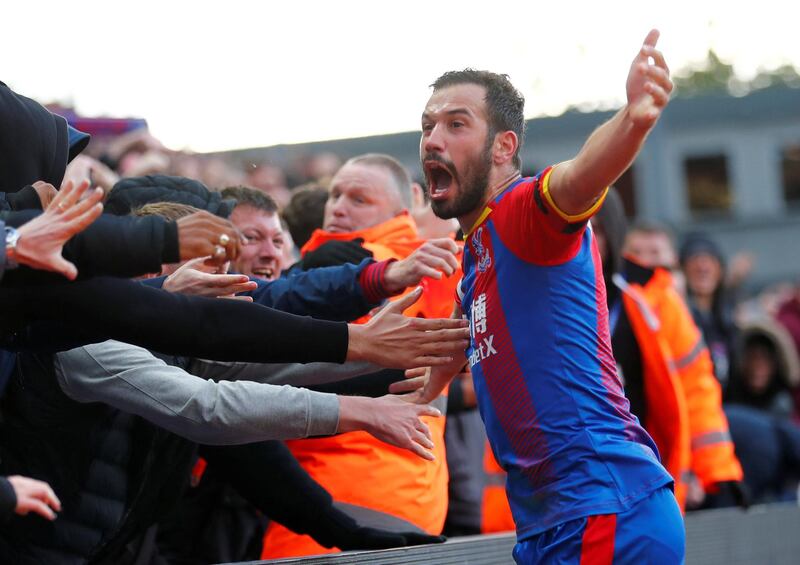
[[(424, 241), (414, 220), (406, 213), (371, 228), (346, 234), (315, 231), (303, 246), (312, 251), (331, 240), (363, 238), (364, 247), (378, 261), (404, 259)], [(452, 314), (460, 270), (441, 280), (424, 279), (420, 300), (405, 311), (407, 316), (448, 318)], [(364, 317), (360, 323), (369, 318)], [(434, 402), (442, 413), (446, 399)], [(433, 436), (435, 461), (387, 445), (366, 432), (350, 432), (320, 439), (286, 442), (298, 462), (338, 503), (388, 515), (398, 529), (421, 529), (440, 534), (447, 514), (447, 463), (444, 448), (445, 418), (423, 417)], [(405, 524), (405, 525), (403, 525)], [(334, 553), (310, 536), (300, 536), (275, 522), (264, 536), (262, 559)]]

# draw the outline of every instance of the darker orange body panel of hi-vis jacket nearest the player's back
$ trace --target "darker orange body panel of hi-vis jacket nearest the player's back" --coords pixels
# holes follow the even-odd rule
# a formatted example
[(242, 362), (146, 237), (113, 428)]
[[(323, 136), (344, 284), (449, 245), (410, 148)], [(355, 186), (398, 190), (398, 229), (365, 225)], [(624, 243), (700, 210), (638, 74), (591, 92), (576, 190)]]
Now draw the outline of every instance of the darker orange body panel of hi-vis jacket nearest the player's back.
[(669, 345), (661, 335), (661, 322), (651, 309), (644, 289), (615, 275), (622, 304), (642, 359), (647, 421), (642, 422), (658, 447), (661, 463), (675, 480), (675, 498), (683, 510), (691, 462), (689, 412), (681, 377)]

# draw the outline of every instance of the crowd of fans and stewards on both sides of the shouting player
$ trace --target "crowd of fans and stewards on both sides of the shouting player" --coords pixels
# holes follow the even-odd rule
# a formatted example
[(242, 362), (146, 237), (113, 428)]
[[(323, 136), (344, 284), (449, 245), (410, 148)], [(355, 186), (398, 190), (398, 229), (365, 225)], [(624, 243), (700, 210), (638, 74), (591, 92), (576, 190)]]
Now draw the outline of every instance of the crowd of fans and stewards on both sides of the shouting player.
[[(0, 561), (513, 530), (468, 370), (431, 405), (400, 396), (420, 386), (404, 369), (469, 336), (448, 319), (458, 224), (400, 163), (236, 163), (139, 123), (88, 143), (2, 83), (0, 98)], [(629, 226), (613, 191), (593, 228), (620, 376), (679, 503), (796, 499), (800, 286), (743, 300), (752, 261)]]

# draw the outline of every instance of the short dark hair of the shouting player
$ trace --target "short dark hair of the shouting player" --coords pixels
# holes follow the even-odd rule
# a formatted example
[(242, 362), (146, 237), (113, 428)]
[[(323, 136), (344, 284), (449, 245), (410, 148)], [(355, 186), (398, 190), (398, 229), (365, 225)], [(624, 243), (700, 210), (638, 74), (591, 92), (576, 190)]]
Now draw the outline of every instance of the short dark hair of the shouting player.
[[(525, 97), (514, 88), (508, 75), (464, 69), (448, 71), (436, 79), (431, 85), (434, 92), (457, 84), (477, 84), (486, 89), (486, 113), (489, 120), (489, 140), (501, 131), (513, 131), (517, 134), (519, 145), (514, 153), (514, 166), (522, 168), (519, 152), (525, 138)], [(487, 143), (489, 141), (487, 140)]]

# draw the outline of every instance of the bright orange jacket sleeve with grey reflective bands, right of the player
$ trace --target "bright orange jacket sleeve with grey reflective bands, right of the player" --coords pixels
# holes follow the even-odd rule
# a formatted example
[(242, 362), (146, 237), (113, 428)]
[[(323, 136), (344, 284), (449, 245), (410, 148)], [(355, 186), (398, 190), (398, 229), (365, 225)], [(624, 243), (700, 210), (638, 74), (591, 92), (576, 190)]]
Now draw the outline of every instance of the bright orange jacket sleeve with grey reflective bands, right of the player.
[(669, 346), (686, 396), (692, 473), (708, 492), (715, 491), (716, 483), (741, 481), (742, 466), (722, 411), (722, 388), (700, 329), (667, 270), (656, 269), (643, 291), (661, 323), (659, 334)]

